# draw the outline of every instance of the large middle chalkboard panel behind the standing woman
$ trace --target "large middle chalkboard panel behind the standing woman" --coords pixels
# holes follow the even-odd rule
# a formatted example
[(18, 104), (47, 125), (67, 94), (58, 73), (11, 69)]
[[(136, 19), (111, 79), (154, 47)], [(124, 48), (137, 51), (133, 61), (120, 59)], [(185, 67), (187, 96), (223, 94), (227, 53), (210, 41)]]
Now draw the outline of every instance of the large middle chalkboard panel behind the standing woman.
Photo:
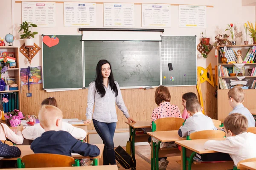
[(84, 42), (85, 87), (96, 74), (100, 59), (111, 62), (120, 87), (160, 85), (160, 42)]

